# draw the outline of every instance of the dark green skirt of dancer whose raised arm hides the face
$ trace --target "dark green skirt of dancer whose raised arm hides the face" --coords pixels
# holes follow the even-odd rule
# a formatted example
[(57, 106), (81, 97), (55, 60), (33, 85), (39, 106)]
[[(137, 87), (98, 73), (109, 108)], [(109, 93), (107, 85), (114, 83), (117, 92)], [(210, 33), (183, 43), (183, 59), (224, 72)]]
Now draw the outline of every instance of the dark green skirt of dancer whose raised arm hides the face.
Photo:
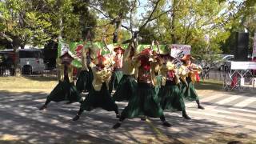
[(129, 99), (136, 93), (137, 85), (138, 84), (133, 75), (124, 74), (119, 82), (117, 90), (113, 95), (114, 101), (129, 101)]

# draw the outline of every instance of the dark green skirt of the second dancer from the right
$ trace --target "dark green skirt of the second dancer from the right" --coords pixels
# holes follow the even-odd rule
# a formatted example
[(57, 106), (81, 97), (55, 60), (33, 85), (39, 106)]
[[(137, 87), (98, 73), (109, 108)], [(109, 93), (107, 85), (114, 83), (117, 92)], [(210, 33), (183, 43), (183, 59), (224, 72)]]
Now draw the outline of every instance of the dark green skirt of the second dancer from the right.
[(185, 110), (182, 93), (174, 82), (166, 81), (166, 86), (161, 87), (158, 98), (163, 110)]

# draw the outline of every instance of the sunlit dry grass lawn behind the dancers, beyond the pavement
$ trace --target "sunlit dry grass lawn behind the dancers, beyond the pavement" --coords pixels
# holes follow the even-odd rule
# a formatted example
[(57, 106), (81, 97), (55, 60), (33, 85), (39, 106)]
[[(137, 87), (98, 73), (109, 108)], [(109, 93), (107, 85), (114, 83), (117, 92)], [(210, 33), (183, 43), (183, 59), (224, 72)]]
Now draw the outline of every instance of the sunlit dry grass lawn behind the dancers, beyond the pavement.
[[(47, 92), (54, 89), (58, 83), (57, 78), (44, 77), (0, 77), (0, 90), (10, 92)], [(198, 94), (208, 94), (222, 90), (222, 82), (209, 79), (195, 83)]]

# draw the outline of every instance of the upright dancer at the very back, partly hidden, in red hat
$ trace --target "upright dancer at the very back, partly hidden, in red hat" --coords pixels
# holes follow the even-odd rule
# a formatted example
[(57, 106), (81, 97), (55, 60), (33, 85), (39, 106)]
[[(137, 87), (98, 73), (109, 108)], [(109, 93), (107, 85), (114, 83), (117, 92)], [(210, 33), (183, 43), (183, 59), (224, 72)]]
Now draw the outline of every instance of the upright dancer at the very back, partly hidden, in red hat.
[(112, 90), (116, 90), (118, 84), (122, 78), (122, 57), (125, 50), (122, 49), (121, 46), (115, 47), (114, 52), (114, 72), (110, 79), (110, 94)]

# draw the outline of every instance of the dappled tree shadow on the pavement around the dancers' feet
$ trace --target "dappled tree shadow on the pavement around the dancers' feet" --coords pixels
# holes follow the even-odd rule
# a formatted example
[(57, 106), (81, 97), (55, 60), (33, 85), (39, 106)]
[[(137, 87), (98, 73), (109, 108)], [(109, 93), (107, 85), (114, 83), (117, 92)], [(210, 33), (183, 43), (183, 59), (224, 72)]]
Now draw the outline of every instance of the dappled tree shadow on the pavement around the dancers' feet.
[[(163, 127), (159, 119), (142, 122), (134, 118), (113, 130), (118, 119), (114, 112), (101, 109), (84, 112), (73, 122), (71, 119), (77, 114), (79, 103), (52, 102), (48, 110), (39, 111), (46, 96), (43, 92), (1, 90), (0, 134), (18, 137), (14, 143), (190, 143), (182, 139), (202, 138), (223, 128), (207, 119), (185, 120), (181, 114), (179, 117), (166, 112), (166, 119), (173, 124), (170, 128)], [(125, 106), (126, 102), (119, 102), (119, 111)], [(1, 142), (5, 141), (0, 138)]]

